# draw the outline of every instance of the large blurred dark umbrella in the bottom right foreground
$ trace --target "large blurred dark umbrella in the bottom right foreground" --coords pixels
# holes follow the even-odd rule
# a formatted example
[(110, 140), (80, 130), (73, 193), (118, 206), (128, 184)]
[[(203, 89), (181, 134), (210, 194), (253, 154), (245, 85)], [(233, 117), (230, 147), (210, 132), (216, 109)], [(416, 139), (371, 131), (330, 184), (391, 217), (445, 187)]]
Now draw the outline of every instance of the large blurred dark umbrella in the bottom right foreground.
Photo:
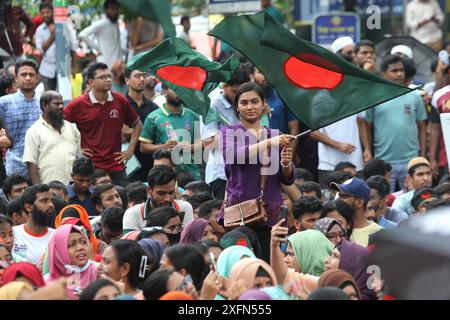
[(370, 264), (398, 299), (450, 299), (450, 208), (382, 231), (371, 239)]

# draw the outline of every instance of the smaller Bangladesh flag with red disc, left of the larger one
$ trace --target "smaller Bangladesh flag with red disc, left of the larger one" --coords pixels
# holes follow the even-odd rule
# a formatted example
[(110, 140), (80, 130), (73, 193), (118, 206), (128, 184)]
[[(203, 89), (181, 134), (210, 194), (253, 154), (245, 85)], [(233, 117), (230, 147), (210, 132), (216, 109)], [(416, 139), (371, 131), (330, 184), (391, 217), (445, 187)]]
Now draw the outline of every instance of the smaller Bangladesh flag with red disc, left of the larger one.
[(208, 124), (219, 119), (218, 114), (209, 112), (212, 109), (208, 94), (220, 82), (228, 81), (238, 65), (239, 60), (234, 56), (223, 65), (211, 62), (184, 40), (175, 38), (165, 39), (155, 48), (136, 55), (127, 68), (151, 72)]

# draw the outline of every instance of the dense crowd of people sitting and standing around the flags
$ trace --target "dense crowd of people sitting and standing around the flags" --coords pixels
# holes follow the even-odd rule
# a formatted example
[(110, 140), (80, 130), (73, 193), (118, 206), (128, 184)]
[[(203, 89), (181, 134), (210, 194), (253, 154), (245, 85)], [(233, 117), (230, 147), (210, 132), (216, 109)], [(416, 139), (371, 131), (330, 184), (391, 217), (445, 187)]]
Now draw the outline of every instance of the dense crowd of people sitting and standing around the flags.
[[(371, 277), (372, 239), (450, 205), (439, 121), (448, 64), (433, 61), (426, 90), (297, 138), (301, 119), (240, 57), (210, 94), (220, 117), (204, 124), (175, 91), (125, 67), (119, 5), (104, 9), (79, 34), (97, 57), (66, 106), (48, 2), (35, 28), (42, 59), (17, 48), (0, 71), (0, 299), (395, 298)], [(129, 27), (135, 52), (163, 38), (142, 18)], [(339, 38), (331, 50), (418, 85), (410, 48), (392, 48), (380, 70), (369, 40)]]

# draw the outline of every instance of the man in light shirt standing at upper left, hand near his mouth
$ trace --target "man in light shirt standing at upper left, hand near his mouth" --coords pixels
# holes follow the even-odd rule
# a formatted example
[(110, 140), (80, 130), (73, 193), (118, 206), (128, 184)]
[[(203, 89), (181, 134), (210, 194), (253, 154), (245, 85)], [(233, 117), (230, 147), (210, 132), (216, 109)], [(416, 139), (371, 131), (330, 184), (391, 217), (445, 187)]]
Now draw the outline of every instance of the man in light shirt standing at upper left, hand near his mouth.
[[(42, 54), (39, 76), (44, 84), (44, 90), (56, 90), (56, 42), (53, 5), (48, 2), (41, 3), (39, 13), (44, 20), (44, 23), (36, 29), (36, 48)], [(70, 40), (72, 66), (75, 66), (77, 44), (71, 37)]]

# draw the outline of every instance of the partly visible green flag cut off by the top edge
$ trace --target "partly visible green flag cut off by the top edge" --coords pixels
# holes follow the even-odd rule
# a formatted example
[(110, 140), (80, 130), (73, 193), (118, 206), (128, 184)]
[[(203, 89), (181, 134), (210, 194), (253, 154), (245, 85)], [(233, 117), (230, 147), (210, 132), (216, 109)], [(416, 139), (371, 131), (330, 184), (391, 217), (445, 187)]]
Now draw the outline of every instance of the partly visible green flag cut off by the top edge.
[(176, 37), (168, 0), (118, 0), (118, 2), (125, 10), (137, 16), (159, 22), (169, 38)]

